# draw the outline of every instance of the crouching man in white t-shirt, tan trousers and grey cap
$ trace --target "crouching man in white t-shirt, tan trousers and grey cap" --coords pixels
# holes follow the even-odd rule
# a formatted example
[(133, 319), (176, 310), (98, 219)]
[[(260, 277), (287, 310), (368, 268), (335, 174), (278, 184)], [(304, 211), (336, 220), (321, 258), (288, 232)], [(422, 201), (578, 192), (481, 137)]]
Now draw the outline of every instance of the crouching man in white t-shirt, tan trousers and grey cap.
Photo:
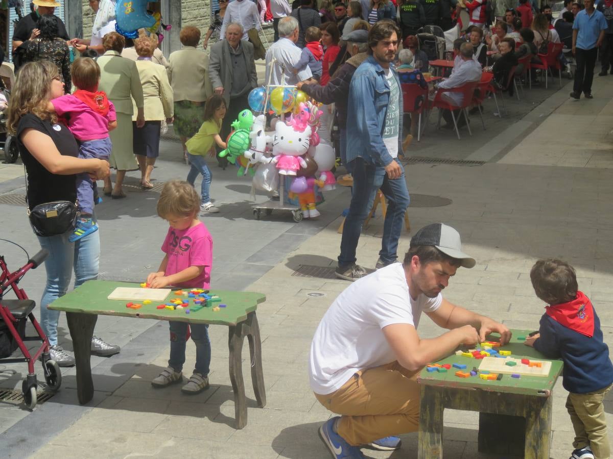
[[(460, 234), (443, 223), (417, 231), (403, 263), (383, 267), (349, 286), (327, 310), (311, 343), (309, 376), (315, 397), (333, 417), (319, 429), (335, 458), (364, 457), (360, 447), (400, 447), (394, 435), (419, 425), (416, 376), (460, 345), (474, 345), (503, 324), (451, 304), (441, 291), (458, 267), (471, 268)], [(425, 313), (449, 329), (421, 339)]]

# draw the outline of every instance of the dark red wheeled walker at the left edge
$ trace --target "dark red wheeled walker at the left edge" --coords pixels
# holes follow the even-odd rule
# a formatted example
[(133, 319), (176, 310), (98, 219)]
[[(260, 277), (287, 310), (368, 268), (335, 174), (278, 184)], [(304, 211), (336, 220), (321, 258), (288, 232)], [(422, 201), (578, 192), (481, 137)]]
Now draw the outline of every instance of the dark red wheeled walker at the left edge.
[[(26, 253), (27, 254), (27, 253)], [(59, 365), (55, 360), (50, 359), (49, 341), (45, 336), (42, 328), (34, 317), (34, 307), (36, 303), (28, 299), (25, 291), (18, 288), (17, 284), (30, 269), (36, 269), (42, 263), (49, 253), (47, 250), (40, 250), (32, 258), (28, 259), (28, 263), (14, 272), (10, 272), (4, 261), (4, 256), (0, 255), (0, 362), (1, 363), (16, 363), (28, 362), (28, 376), (21, 384), (21, 392), (25, 405), (29, 409), (34, 409), (36, 406), (36, 373), (34, 373), (34, 362), (42, 356), (42, 367), (45, 373), (45, 381), (47, 387), (51, 390), (58, 390), (62, 384), (62, 374), (59, 371)], [(12, 289), (17, 299), (3, 299), (4, 293)], [(26, 336), (26, 323), (30, 319), (32, 326), (36, 330), (36, 336)], [(36, 352), (32, 354), (26, 348), (24, 341), (40, 341), (39, 348), (35, 348)], [(20, 349), (23, 357), (11, 358), (11, 354)], [(34, 349), (33, 349), (34, 350)]]

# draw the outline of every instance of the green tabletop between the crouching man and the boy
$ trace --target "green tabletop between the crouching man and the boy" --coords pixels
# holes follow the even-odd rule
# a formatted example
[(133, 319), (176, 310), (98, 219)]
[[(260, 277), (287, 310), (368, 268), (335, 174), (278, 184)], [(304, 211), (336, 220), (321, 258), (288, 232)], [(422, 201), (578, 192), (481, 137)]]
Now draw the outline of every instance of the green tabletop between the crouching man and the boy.
[[(513, 336), (511, 341), (505, 346), (498, 348), (511, 351), (511, 357), (516, 359), (538, 359), (549, 360), (551, 362), (551, 369), (549, 376), (524, 376), (521, 378), (511, 378), (511, 375), (503, 375), (500, 381), (487, 381), (479, 378), (479, 376), (471, 376), (470, 378), (460, 378), (455, 376), (457, 368), (453, 367), (453, 364), (465, 364), (466, 369), (462, 371), (470, 371), (473, 367), (479, 368), (481, 360), (471, 359), (465, 356), (456, 356), (455, 354), (445, 357), (444, 359), (433, 362), (436, 364), (451, 364), (451, 369), (447, 370), (447, 373), (438, 373), (438, 371), (428, 371), (424, 368), (419, 374), (417, 381), (420, 384), (428, 384), (432, 386), (442, 387), (457, 387), (459, 389), (483, 389), (489, 391), (503, 392), (505, 394), (526, 394), (526, 395), (541, 395), (548, 397), (555, 385), (555, 381), (562, 373), (562, 360), (550, 360), (546, 359), (543, 354), (536, 351), (530, 346), (524, 345), (524, 341), (517, 340), (518, 336), (526, 336), (533, 330), (511, 330)], [(488, 337), (493, 341), (498, 340), (498, 335), (492, 335)]]

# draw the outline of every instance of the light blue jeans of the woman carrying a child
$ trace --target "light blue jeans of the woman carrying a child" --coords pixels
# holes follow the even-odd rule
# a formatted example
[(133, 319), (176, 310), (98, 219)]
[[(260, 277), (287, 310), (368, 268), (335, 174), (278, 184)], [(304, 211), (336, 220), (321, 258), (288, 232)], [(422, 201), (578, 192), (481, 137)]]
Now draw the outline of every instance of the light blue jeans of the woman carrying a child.
[(59, 311), (47, 309), (47, 305), (66, 294), (72, 271), (75, 272), (75, 288), (86, 280), (98, 277), (100, 261), (100, 231), (90, 233), (75, 242), (68, 242), (69, 233), (58, 236), (38, 236), (40, 247), (49, 251), (45, 260), (47, 285), (40, 300), (40, 326), (49, 338), (49, 344), (58, 344)]

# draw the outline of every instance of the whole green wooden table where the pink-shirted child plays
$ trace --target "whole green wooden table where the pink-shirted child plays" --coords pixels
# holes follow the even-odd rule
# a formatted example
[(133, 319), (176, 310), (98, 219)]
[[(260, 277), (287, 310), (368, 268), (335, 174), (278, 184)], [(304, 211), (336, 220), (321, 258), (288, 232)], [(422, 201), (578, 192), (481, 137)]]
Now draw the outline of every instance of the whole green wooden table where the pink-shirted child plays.
[[(99, 315), (124, 316), (143, 319), (173, 320), (194, 324), (216, 324), (227, 326), (228, 346), (230, 349), (230, 381), (234, 390), (234, 405), (236, 415), (236, 428), (242, 429), (247, 424), (247, 403), (245, 397), (245, 383), (242, 370), (243, 341), (249, 341), (251, 354), (251, 379), (256, 395), (257, 405), (263, 408), (266, 405), (264, 390), (264, 373), (262, 371), (262, 344), (257, 324), (257, 305), (264, 302), (266, 297), (261, 293), (237, 292), (211, 289), (211, 295), (221, 298), (220, 303), (226, 304), (214, 312), (212, 308), (202, 308), (197, 312), (185, 313), (185, 310), (171, 311), (157, 309), (161, 302), (151, 302), (142, 305), (140, 309), (126, 307), (126, 300), (109, 300), (107, 297), (116, 287), (140, 287), (139, 284), (126, 282), (111, 282), (105, 280), (89, 280), (80, 287), (68, 292), (63, 297), (51, 303), (48, 308), (66, 312), (70, 337), (74, 347), (75, 362), (77, 365), (77, 395), (82, 405), (88, 403), (94, 395), (94, 384), (91, 379), (91, 338), (94, 326)], [(177, 288), (173, 288), (173, 291)], [(183, 289), (187, 291), (189, 289)], [(165, 302), (175, 297), (170, 294)], [(188, 300), (188, 297), (184, 297)], [(193, 299), (189, 298), (189, 304)]]

